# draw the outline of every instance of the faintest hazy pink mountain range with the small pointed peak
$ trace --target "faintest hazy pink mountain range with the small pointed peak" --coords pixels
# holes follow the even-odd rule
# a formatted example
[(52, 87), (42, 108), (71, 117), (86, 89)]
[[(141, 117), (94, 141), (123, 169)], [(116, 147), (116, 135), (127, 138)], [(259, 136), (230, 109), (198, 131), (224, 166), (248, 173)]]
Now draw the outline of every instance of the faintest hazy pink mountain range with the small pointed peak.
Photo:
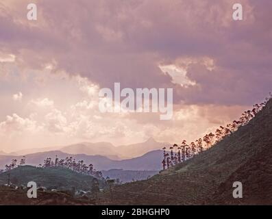
[(121, 146), (114, 146), (109, 142), (82, 142), (79, 144), (71, 144), (69, 146), (55, 146), (41, 149), (26, 149), (15, 151), (12, 153), (12, 155), (27, 155), (30, 153), (40, 153), (47, 151), (62, 151), (69, 154), (101, 155), (110, 159), (121, 160), (140, 157), (150, 151), (160, 150), (166, 145), (169, 145), (169, 143), (156, 142), (156, 140), (153, 138), (149, 138), (149, 140), (146, 142)]

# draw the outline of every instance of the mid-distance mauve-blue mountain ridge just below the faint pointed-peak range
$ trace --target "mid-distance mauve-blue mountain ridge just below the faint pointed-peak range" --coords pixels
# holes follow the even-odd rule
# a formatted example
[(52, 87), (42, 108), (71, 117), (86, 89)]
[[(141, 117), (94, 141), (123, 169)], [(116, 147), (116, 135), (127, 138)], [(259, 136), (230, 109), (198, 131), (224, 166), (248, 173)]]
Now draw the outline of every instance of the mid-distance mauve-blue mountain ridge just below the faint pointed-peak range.
[[(26, 155), (27, 164), (38, 166), (43, 164), (47, 157), (55, 159), (58, 155), (60, 159), (65, 157), (74, 157), (76, 160), (83, 159), (86, 164), (93, 164), (97, 170), (110, 170), (113, 168), (123, 170), (160, 170), (162, 161), (162, 151), (151, 151), (140, 157), (123, 160), (113, 160), (101, 155), (85, 155), (85, 154), (69, 154), (62, 151), (47, 151), (40, 153), (32, 153)], [(21, 156), (0, 155), (0, 168), (4, 168), (5, 164), (10, 164), (12, 159), (21, 159)]]

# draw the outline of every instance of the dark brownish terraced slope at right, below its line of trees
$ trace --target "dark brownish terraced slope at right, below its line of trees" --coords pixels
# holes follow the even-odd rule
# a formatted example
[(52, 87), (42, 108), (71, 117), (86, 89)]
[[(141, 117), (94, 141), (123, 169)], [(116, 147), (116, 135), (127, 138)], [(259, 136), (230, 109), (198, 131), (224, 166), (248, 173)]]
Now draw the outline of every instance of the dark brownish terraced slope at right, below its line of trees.
[[(238, 131), (208, 151), (151, 179), (117, 185), (101, 204), (272, 205), (272, 101)], [(232, 197), (234, 181), (243, 198)]]

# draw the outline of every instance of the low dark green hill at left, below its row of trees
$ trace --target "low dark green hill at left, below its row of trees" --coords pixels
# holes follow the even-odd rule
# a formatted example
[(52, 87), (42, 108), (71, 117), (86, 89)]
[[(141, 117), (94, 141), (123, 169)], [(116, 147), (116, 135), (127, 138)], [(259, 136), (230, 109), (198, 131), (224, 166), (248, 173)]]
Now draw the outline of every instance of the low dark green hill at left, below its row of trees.
[[(19, 166), (8, 172), (0, 174), (0, 184), (8, 182), (10, 174), (11, 183), (15, 185), (27, 185), (34, 181), (39, 187), (58, 190), (90, 190), (94, 177), (82, 175), (66, 168), (36, 168), (34, 166)], [(99, 180), (103, 188), (103, 181)]]

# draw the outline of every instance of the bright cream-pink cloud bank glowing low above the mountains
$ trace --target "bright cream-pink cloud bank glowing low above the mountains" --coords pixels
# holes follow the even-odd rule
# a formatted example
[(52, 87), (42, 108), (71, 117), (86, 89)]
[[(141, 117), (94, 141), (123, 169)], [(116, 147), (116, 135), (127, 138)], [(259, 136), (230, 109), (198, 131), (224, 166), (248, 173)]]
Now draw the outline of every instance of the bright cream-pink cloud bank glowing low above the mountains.
[[(56, 84), (62, 80), (53, 79), (57, 80)], [(197, 77), (194, 79), (197, 81)], [(162, 121), (159, 114), (152, 113), (103, 114), (97, 107), (99, 89), (91, 81), (79, 77), (65, 80), (62, 84), (73, 81), (72, 93), (79, 92), (73, 103), (68, 103), (62, 96), (66, 86), (54, 92), (54, 99), (36, 96), (24, 101), (26, 116), (17, 113), (0, 123), (3, 145), (42, 147), (82, 141), (108, 141), (118, 145), (144, 141), (150, 136), (161, 142), (179, 142), (180, 138), (192, 141), (238, 118), (240, 112), (247, 109), (239, 105), (182, 104), (175, 106), (173, 120), (169, 121)], [(91, 95), (88, 88), (95, 88)], [(24, 98), (27, 100), (29, 96)], [(63, 101), (56, 101), (58, 99)]]

